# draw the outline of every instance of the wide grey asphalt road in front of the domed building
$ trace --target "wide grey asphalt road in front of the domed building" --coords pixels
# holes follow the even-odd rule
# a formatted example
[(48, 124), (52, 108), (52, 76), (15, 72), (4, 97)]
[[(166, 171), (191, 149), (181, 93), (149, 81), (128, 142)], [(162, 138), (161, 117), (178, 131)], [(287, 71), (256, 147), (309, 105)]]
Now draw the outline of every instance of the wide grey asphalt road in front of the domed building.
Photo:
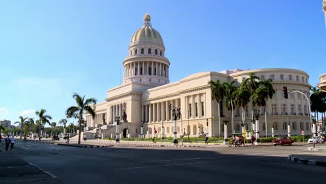
[[(1, 144), (2, 150), (3, 143)], [(0, 151), (0, 183), (320, 183), (326, 167), (288, 160), (304, 145), (76, 148), (18, 140)]]

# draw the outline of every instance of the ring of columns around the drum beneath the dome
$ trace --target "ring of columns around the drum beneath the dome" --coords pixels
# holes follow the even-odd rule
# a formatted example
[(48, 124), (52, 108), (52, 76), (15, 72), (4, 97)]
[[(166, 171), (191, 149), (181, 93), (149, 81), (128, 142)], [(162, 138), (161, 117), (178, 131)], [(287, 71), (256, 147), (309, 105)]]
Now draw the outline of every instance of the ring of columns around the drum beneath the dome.
[(157, 75), (169, 78), (169, 66), (155, 61), (135, 61), (124, 66), (124, 78), (139, 75)]

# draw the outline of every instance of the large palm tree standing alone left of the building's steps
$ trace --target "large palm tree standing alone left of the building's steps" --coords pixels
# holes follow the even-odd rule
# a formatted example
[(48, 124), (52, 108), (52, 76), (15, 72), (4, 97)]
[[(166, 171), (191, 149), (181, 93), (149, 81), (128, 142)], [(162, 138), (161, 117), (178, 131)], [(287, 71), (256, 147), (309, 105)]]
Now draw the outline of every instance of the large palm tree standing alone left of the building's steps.
[[(89, 106), (91, 104), (96, 104), (96, 99), (95, 98), (88, 98), (85, 100), (85, 95), (81, 98), (81, 95), (74, 93), (72, 95), (72, 98), (75, 98), (77, 106), (71, 106), (67, 109), (65, 114), (67, 116), (72, 117), (74, 114), (79, 114), (79, 132), (78, 132), (78, 144), (80, 144), (80, 134), (81, 134), (81, 122), (83, 119), (83, 114), (84, 111), (88, 112), (89, 114), (92, 115), (92, 117), (95, 117), (95, 112), (94, 110)], [(85, 129), (84, 129), (85, 132)]]

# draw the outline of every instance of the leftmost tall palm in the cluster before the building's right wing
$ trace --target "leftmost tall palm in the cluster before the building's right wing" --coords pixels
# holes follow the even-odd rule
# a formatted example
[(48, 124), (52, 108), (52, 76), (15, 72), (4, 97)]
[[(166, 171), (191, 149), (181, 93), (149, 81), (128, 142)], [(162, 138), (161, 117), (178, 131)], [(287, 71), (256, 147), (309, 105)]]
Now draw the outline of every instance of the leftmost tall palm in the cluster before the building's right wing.
[(224, 86), (223, 84), (219, 84), (219, 79), (217, 79), (216, 82), (211, 80), (208, 84), (210, 84), (210, 89), (212, 91), (212, 100), (217, 101), (217, 111), (219, 114), (219, 137), (221, 137), (221, 114), (219, 110), (219, 102), (224, 98)]

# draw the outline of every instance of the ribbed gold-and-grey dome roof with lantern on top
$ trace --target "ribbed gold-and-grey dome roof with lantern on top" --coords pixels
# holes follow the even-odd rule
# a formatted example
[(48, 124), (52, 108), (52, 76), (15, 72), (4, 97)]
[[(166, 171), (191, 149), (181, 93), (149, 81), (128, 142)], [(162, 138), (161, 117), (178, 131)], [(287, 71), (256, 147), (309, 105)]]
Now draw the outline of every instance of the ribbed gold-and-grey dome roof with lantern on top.
[(143, 17), (143, 26), (141, 29), (134, 32), (132, 39), (130, 40), (130, 44), (139, 42), (164, 45), (160, 33), (150, 25), (150, 15), (148, 14)]

